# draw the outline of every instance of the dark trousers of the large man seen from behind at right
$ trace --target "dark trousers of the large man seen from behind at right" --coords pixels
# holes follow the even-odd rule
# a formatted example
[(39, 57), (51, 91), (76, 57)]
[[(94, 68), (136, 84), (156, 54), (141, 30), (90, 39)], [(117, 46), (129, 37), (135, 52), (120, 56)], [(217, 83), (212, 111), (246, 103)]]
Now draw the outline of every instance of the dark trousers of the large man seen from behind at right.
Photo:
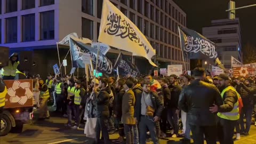
[(217, 129), (216, 125), (211, 126), (199, 126), (199, 125), (191, 125), (189, 124), (192, 134), (193, 140), (195, 144), (204, 144), (204, 135), (207, 144), (216, 144), (217, 138)]

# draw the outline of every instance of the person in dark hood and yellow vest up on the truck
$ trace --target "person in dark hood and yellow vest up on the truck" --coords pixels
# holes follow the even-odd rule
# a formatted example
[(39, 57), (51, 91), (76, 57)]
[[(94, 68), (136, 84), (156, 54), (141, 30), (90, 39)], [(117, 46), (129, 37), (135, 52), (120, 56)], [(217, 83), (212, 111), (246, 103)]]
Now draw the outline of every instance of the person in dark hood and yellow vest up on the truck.
[(7, 66), (2, 68), (3, 80), (15, 79), (16, 70), (18, 69), (19, 64), (20, 62), (18, 53), (13, 53), (9, 58)]

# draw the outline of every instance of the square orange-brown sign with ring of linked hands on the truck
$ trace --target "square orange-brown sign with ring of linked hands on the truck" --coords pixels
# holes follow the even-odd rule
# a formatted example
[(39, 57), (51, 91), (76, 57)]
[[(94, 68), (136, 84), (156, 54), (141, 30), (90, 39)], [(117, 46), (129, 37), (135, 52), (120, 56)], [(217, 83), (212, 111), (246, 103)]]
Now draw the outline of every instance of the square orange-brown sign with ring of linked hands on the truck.
[(8, 90), (4, 108), (33, 106), (33, 79), (5, 80)]

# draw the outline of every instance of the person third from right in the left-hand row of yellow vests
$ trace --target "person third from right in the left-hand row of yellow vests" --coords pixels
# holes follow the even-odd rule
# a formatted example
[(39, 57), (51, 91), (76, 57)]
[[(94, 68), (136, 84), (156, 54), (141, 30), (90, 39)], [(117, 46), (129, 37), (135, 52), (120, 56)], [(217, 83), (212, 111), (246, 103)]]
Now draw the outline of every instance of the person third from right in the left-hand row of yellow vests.
[(63, 83), (61, 82), (61, 78), (60, 77), (57, 77), (56, 81), (57, 81), (57, 84), (55, 85), (56, 86), (56, 96), (57, 96), (57, 99), (56, 99), (56, 105), (57, 105), (56, 111), (60, 111), (61, 108), (64, 105), (64, 102), (63, 102), (64, 101), (64, 96), (62, 94)]

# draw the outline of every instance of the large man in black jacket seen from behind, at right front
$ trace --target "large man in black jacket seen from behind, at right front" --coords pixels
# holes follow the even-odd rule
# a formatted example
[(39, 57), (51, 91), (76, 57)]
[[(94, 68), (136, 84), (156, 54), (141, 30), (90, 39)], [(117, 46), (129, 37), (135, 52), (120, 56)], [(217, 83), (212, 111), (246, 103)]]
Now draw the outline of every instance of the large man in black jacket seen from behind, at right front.
[(194, 69), (195, 81), (186, 86), (179, 98), (179, 108), (187, 113), (187, 123), (191, 127), (194, 143), (204, 143), (204, 135), (208, 144), (216, 144), (217, 115), (209, 110), (214, 103), (222, 105), (217, 87), (203, 82), (204, 68)]

